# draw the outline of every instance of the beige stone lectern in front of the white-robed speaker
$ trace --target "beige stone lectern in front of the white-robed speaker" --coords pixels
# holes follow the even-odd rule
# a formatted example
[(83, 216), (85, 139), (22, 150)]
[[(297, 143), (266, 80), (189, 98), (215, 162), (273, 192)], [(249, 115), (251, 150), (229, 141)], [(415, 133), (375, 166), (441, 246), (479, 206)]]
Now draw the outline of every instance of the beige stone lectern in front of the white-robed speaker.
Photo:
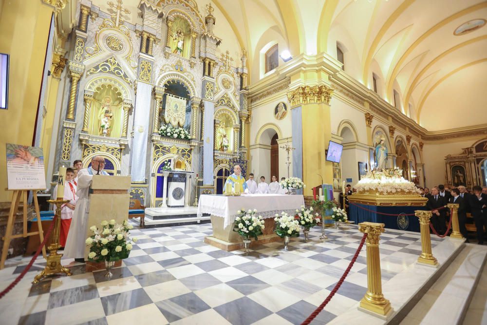
[[(129, 216), (130, 176), (93, 175), (90, 187), (90, 210), (88, 212), (88, 227), (86, 238), (93, 233), (91, 226), (102, 227), (103, 220), (121, 224)], [(85, 249), (85, 260), (88, 260), (90, 247)]]

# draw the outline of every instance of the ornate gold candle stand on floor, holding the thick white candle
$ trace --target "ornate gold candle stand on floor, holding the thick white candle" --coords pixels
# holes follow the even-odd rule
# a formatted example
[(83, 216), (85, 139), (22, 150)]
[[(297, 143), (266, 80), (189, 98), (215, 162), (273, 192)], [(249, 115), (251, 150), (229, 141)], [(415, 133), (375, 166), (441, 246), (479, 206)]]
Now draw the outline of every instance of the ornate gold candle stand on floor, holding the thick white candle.
[(56, 205), (56, 223), (54, 224), (54, 230), (53, 230), (53, 235), (52, 235), (52, 241), (51, 245), (49, 245), (49, 255), (47, 256), (47, 265), (40, 274), (37, 274), (36, 277), (34, 278), (34, 281), (32, 281), (33, 284), (39, 283), (39, 281), (52, 274), (57, 274), (57, 273), (66, 273), (66, 275), (71, 275), (71, 271), (69, 268), (64, 268), (61, 265), (61, 257), (62, 254), (57, 253), (57, 249), (59, 249), (59, 231), (61, 227), (61, 206), (69, 202), (67, 200), (63, 200), (62, 198), (57, 198), (56, 200), (48, 200), (47, 202), (55, 204)]

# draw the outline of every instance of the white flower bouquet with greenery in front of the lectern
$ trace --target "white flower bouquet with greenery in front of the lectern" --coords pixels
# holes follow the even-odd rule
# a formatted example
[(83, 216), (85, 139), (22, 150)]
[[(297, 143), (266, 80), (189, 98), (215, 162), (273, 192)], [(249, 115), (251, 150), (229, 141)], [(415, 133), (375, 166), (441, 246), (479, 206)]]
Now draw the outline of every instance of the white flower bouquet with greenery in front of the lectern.
[(86, 245), (90, 246), (88, 260), (93, 262), (118, 261), (129, 257), (132, 249), (131, 242), (136, 242), (137, 238), (129, 240), (129, 230), (133, 228), (127, 220), (122, 224), (117, 224), (115, 220), (102, 221), (102, 228), (90, 227), (93, 235), (86, 239)]

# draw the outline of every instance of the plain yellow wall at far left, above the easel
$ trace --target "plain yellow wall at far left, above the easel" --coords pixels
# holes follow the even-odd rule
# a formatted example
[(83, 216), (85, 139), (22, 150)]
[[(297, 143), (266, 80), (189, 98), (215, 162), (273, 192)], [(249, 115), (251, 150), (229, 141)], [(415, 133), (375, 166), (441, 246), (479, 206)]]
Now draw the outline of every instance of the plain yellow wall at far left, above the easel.
[[(0, 53), (10, 55), (8, 110), (0, 110), (0, 202), (8, 201), (5, 144), (32, 145), (53, 8), (41, 1), (3, 1)], [(0, 5), (1, 5), (0, 1)]]

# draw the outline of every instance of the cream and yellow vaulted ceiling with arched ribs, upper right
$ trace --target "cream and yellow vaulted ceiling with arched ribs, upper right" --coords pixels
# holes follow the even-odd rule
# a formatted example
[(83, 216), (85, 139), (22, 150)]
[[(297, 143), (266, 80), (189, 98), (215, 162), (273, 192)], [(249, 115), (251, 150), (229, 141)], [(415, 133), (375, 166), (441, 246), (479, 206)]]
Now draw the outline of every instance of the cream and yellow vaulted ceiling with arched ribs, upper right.
[[(124, 2), (136, 7), (139, 0)], [(196, 2), (205, 16), (209, 1)], [(487, 99), (483, 96), (487, 89), (487, 26), (454, 35), (465, 22), (487, 19), (485, 0), (211, 3), (217, 20), (215, 34), (224, 38), (231, 33), (227, 38), (240, 47), (233, 52), (248, 51), (251, 82), (262, 76), (262, 53), (273, 43), (279, 43), (280, 51), (289, 49), (295, 57), (322, 52), (336, 57), (338, 43), (347, 74), (371, 89), (374, 74), (378, 94), (393, 104), (396, 90), (403, 113), (427, 130), (487, 123)]]

